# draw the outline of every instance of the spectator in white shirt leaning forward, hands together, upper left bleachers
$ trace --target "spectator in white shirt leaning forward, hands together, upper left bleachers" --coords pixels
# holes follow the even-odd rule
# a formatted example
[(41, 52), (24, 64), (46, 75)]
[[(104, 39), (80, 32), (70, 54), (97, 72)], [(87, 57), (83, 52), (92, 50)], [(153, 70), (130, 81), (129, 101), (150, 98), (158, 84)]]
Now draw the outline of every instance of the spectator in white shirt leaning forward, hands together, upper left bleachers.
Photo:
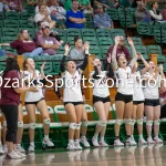
[(39, 21), (43, 21), (45, 25), (50, 27), (53, 29), (55, 27), (55, 21), (52, 21), (50, 18), (50, 13), (45, 11), (45, 6), (40, 4), (39, 6), (39, 13), (35, 14), (34, 17), (35, 23)]

